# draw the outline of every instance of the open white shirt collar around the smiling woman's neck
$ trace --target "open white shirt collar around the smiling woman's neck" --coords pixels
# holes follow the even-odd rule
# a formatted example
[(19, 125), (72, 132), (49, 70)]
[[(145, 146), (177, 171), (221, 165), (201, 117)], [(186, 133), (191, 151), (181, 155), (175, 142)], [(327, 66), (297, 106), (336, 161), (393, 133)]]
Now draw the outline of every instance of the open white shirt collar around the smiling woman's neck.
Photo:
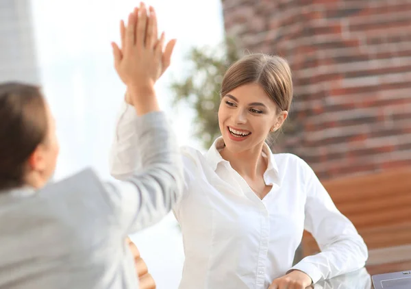
[[(223, 147), (224, 147), (224, 140), (223, 140), (223, 137), (220, 136), (219, 138), (216, 138), (216, 140), (214, 140), (214, 143), (212, 144), (212, 146), (206, 153), (206, 160), (214, 171), (216, 171), (219, 163), (228, 163), (227, 160), (224, 160), (220, 154), (220, 151), (221, 149), (223, 149)], [(269, 145), (266, 144), (266, 142), (264, 142), (264, 145), (262, 147), (262, 152), (264, 153), (264, 156), (268, 158), (268, 161), (269, 161), (267, 169), (264, 173), (264, 180), (266, 184), (267, 185), (269, 184), (280, 185), (278, 167), (274, 160), (273, 152), (271, 151)]]

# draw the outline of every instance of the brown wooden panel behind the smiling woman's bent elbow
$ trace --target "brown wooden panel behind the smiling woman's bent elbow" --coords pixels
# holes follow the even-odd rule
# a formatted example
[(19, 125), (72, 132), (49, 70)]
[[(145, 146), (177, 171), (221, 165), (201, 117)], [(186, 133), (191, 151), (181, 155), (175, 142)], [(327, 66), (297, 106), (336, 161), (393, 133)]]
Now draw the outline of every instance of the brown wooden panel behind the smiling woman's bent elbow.
[[(334, 179), (323, 185), (369, 249), (411, 244), (411, 168)], [(319, 251), (308, 232), (302, 247), (303, 256)]]

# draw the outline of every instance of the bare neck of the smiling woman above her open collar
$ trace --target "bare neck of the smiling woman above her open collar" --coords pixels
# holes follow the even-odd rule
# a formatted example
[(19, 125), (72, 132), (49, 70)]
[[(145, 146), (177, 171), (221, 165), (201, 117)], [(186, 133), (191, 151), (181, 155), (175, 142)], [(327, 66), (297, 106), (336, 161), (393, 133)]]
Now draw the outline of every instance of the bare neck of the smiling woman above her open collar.
[(256, 177), (262, 176), (266, 170), (266, 163), (264, 158), (262, 158), (263, 145), (264, 142), (253, 149), (239, 153), (233, 153), (227, 148), (224, 148), (221, 151), (221, 156), (231, 164), (237, 173), (243, 177), (247, 176), (250, 179), (255, 179)]

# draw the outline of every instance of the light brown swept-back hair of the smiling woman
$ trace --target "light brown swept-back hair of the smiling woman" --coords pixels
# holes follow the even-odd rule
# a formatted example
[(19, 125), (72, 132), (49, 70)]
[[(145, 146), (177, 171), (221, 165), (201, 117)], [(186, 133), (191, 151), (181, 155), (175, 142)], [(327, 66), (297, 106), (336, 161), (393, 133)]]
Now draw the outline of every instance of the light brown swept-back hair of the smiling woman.
[(220, 96), (243, 84), (257, 83), (277, 105), (278, 111), (289, 111), (292, 101), (290, 66), (284, 58), (262, 53), (250, 54), (229, 66), (223, 77)]

